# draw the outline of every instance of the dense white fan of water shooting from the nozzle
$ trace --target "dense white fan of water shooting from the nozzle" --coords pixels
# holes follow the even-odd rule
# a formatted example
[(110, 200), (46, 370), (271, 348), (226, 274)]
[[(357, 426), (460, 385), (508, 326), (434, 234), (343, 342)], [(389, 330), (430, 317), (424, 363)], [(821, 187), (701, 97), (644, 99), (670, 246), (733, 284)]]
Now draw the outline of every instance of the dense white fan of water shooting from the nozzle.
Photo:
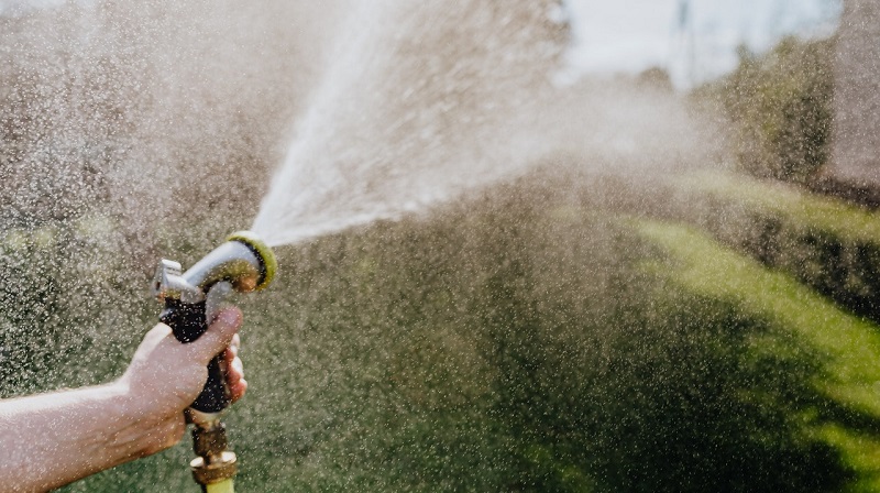
[(554, 8), (352, 7), (253, 229), (277, 244), (398, 217), (546, 153), (532, 116), (565, 36)]

